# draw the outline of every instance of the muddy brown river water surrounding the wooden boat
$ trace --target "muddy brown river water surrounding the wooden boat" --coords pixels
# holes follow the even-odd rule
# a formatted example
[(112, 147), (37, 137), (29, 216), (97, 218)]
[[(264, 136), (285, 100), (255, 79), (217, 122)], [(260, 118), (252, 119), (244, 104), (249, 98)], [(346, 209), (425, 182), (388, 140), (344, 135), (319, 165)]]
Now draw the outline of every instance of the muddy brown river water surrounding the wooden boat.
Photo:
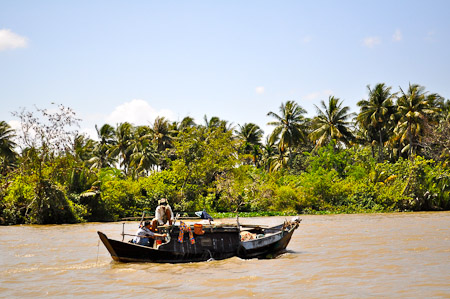
[(121, 223), (3, 226), (0, 297), (450, 298), (449, 212), (301, 218), (276, 259), (191, 264), (112, 261), (96, 232), (121, 239)]

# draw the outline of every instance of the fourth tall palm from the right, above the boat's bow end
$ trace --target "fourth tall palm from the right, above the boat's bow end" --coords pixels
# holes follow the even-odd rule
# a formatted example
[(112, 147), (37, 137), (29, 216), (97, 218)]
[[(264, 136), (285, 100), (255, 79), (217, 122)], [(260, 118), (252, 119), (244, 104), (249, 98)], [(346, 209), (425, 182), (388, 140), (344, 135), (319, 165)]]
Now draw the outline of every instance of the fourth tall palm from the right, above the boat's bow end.
[(290, 148), (299, 145), (306, 139), (307, 119), (303, 116), (306, 110), (294, 101), (287, 101), (281, 104), (280, 115), (269, 112), (276, 121), (269, 122), (268, 125), (275, 126), (270, 139), (273, 141), (279, 138), (278, 148), (281, 153), (287, 152)]

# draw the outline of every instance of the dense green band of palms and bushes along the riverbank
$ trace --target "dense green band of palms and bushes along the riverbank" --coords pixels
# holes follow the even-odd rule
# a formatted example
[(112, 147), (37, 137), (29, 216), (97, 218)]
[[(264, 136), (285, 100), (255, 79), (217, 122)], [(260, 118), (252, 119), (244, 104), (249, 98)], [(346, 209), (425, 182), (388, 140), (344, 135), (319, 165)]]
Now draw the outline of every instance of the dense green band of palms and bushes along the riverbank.
[(218, 117), (77, 133), (75, 113), (13, 113), (0, 122), (0, 222), (109, 221), (153, 210), (354, 213), (450, 208), (450, 103), (410, 85), (368, 86), (357, 115), (339, 98), (313, 118), (296, 102), (269, 112), (273, 131)]

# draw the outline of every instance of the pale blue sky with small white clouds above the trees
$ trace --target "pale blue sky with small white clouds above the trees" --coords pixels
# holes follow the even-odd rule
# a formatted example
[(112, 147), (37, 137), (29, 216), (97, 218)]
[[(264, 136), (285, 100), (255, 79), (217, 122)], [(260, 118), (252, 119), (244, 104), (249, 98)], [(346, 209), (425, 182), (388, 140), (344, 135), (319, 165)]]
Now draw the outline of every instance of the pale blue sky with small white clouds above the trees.
[(269, 134), (282, 103), (352, 112), (367, 86), (450, 98), (450, 1), (0, 0), (0, 120), (51, 103), (80, 130), (217, 116)]

